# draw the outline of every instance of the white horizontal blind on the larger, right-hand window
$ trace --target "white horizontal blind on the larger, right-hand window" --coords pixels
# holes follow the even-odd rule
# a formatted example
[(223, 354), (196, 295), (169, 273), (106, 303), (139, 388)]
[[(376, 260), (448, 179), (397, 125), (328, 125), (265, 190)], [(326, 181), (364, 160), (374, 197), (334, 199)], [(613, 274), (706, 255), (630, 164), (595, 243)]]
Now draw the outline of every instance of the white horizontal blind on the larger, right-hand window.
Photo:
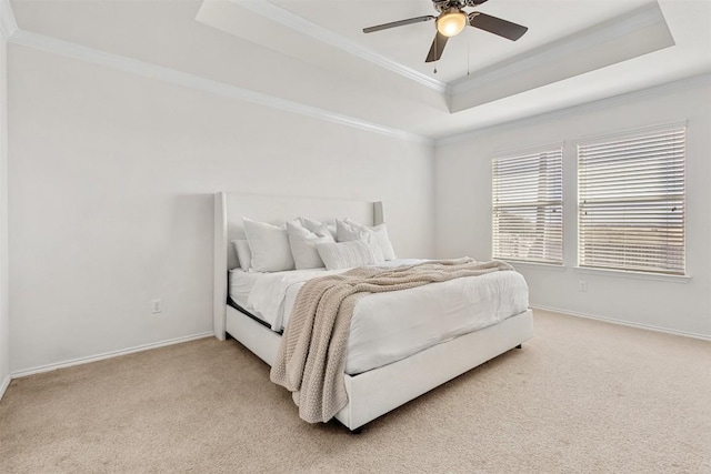
[(579, 265), (684, 274), (685, 128), (578, 147)]

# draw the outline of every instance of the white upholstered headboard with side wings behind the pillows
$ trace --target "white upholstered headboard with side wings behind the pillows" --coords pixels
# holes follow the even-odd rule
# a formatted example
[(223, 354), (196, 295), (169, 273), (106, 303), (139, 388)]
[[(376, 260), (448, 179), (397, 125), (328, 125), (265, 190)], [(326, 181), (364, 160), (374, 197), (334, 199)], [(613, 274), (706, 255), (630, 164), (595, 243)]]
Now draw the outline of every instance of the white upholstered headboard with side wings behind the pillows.
[(304, 216), (317, 221), (350, 218), (365, 225), (384, 222), (381, 202), (333, 198), (242, 194), (219, 192), (214, 195), (214, 335), (224, 340), (224, 317), (228, 297), (228, 270), (237, 266), (231, 242), (244, 239), (242, 218), (281, 224)]

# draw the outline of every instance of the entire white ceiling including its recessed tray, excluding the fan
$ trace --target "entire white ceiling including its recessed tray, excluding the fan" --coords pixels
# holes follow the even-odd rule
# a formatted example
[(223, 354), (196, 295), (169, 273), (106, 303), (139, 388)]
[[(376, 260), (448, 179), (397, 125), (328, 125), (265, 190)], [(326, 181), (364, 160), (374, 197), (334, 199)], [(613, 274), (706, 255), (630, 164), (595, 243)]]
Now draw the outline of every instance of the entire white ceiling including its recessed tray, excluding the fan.
[(80, 46), (423, 140), (711, 72), (709, 0), (489, 0), (465, 10), (529, 31), (513, 42), (467, 28), (437, 64), (424, 62), (433, 21), (362, 33), (437, 14), (430, 0), (10, 4), (19, 28), (10, 42)]

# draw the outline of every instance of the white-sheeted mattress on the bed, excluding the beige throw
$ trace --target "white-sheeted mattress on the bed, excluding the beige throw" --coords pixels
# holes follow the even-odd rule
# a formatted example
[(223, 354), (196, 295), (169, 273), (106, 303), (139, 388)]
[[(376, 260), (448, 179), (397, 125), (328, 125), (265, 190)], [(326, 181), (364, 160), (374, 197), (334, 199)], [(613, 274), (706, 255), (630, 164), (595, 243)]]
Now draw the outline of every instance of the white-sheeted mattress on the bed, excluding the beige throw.
[[(422, 261), (394, 260), (388, 266), (417, 262)], [(308, 280), (343, 271), (347, 270), (274, 273), (233, 270), (230, 296), (273, 331), (281, 331), (289, 324), (297, 294)], [(346, 373), (357, 375), (497, 324), (524, 312), (528, 304), (525, 280), (512, 271), (369, 294), (353, 310)]]

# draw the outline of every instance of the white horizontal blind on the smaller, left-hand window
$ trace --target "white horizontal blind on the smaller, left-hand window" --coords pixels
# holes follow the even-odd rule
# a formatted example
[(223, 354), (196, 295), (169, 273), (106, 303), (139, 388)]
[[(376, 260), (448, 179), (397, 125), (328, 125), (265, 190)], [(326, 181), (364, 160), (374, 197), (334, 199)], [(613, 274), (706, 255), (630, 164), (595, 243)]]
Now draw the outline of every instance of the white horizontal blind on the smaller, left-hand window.
[(563, 263), (562, 147), (492, 160), (494, 259)]

